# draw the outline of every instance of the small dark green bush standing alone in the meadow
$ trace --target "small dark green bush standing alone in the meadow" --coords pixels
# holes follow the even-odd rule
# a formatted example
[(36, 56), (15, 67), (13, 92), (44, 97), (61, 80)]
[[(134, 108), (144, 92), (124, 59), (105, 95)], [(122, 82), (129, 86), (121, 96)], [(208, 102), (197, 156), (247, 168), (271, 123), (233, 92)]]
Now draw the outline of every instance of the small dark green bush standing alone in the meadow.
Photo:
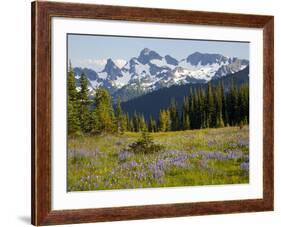
[(134, 153), (154, 153), (163, 150), (164, 146), (155, 144), (147, 131), (142, 132), (141, 138), (129, 145), (129, 151)]

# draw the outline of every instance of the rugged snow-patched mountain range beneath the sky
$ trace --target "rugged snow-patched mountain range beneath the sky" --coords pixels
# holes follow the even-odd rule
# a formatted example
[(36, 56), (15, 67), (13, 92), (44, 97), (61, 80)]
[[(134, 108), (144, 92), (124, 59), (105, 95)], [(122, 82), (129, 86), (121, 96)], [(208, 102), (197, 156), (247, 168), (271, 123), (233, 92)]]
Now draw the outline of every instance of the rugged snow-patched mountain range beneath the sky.
[(131, 58), (122, 68), (109, 58), (100, 72), (79, 67), (74, 68), (74, 72), (77, 80), (82, 72), (86, 74), (92, 92), (104, 87), (113, 98), (121, 96), (126, 101), (175, 84), (206, 83), (241, 71), (248, 65), (249, 61), (245, 59), (199, 52), (178, 61), (170, 55), (163, 57), (144, 48), (138, 57)]

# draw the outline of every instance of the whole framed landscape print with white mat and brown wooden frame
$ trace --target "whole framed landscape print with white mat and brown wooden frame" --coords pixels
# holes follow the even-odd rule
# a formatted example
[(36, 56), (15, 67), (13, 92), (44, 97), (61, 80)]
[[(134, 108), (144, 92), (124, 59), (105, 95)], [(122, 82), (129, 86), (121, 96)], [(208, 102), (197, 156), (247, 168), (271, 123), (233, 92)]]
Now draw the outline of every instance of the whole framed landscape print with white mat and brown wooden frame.
[(272, 16), (32, 3), (32, 224), (273, 210)]

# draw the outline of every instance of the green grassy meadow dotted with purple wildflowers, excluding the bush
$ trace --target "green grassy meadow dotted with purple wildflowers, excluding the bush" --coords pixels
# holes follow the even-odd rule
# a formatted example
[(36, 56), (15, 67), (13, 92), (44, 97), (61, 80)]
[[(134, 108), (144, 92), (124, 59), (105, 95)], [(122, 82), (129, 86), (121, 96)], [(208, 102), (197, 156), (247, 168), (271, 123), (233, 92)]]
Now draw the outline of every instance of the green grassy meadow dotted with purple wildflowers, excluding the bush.
[[(249, 129), (152, 133), (157, 153), (126, 151), (140, 133), (68, 139), (68, 191), (249, 182)], [(232, 156), (231, 156), (232, 154)]]

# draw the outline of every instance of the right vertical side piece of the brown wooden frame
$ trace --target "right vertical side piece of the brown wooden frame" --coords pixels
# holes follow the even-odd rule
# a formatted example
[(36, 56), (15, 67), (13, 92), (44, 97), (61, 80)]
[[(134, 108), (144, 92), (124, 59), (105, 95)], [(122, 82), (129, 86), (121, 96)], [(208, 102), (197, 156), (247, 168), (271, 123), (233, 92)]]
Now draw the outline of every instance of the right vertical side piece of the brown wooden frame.
[(274, 206), (274, 19), (263, 28), (263, 199)]

